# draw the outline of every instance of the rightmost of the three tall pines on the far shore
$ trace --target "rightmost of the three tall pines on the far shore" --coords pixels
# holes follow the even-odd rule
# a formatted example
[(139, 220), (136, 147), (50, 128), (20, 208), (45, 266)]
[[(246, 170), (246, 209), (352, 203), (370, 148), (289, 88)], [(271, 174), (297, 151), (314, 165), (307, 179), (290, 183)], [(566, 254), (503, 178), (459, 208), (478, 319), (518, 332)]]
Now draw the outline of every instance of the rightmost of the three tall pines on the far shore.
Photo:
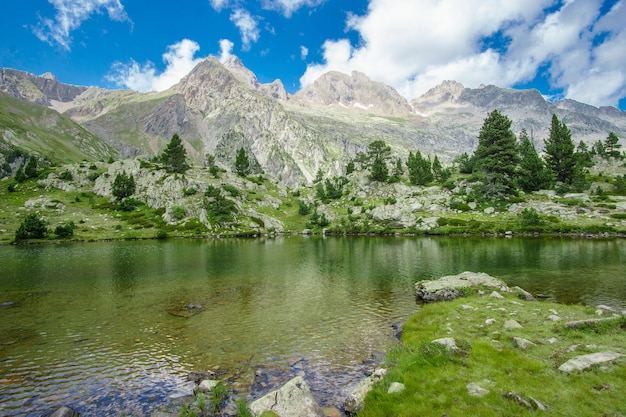
[(571, 184), (576, 168), (572, 132), (567, 125), (552, 115), (550, 137), (545, 140), (546, 165), (557, 182)]

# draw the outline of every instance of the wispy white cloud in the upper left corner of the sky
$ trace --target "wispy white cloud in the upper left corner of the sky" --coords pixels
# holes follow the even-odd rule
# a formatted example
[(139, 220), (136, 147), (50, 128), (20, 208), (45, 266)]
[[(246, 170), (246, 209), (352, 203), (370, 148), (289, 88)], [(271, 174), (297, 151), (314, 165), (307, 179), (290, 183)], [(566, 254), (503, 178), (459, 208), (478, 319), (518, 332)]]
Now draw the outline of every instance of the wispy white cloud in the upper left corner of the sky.
[(65, 50), (72, 43), (71, 32), (94, 13), (106, 10), (109, 18), (116, 21), (129, 21), (120, 0), (48, 0), (55, 8), (54, 19), (40, 17), (33, 33), (42, 41), (57, 44)]

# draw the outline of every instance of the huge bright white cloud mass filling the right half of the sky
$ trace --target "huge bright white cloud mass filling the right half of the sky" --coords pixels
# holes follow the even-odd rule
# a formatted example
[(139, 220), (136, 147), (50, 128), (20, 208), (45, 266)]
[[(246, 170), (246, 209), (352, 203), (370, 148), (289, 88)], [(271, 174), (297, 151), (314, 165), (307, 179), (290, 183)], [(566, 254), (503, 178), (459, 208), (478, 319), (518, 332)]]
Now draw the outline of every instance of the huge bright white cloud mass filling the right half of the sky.
[(359, 44), (327, 40), (323, 61), (300, 82), (358, 70), (410, 99), (446, 79), (511, 87), (547, 68), (564, 97), (617, 105), (625, 95), (625, 2), (600, 16), (602, 0), (371, 0), (364, 16), (346, 22)]

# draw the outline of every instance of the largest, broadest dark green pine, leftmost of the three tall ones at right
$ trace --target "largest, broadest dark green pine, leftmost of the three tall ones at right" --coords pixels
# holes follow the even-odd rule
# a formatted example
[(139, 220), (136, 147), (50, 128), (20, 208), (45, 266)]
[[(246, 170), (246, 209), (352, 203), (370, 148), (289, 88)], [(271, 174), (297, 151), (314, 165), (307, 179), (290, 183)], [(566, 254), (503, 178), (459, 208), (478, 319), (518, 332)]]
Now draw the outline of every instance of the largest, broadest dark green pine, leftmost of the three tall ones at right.
[(519, 162), (517, 141), (511, 131), (511, 120), (498, 110), (485, 119), (474, 158), (475, 168), (484, 173), (483, 180), (501, 186), (505, 194), (513, 193)]

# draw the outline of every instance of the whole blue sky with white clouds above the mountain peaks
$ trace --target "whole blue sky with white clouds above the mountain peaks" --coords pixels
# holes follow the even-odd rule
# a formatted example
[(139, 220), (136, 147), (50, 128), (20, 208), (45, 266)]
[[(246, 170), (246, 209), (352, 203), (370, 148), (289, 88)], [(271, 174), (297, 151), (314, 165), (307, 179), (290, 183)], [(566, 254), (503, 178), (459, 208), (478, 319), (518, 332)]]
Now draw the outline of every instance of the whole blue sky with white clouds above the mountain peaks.
[(626, 0), (21, 0), (0, 14), (0, 67), (69, 84), (163, 90), (211, 55), (291, 93), (357, 70), (407, 99), (451, 79), (625, 110)]

